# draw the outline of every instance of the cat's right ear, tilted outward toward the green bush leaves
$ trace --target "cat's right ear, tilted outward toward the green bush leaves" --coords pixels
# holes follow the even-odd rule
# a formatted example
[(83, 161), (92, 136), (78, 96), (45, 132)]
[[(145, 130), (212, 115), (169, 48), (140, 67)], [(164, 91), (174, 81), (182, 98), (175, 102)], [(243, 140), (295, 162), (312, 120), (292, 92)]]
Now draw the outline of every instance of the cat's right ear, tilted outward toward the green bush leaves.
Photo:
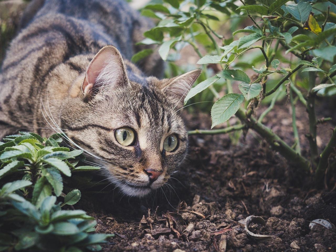
[(161, 90), (165, 92), (174, 103), (183, 106), (183, 101), (189, 90), (193, 87), (194, 82), (201, 74), (201, 70), (193, 70), (177, 76), (175, 78), (164, 81)]

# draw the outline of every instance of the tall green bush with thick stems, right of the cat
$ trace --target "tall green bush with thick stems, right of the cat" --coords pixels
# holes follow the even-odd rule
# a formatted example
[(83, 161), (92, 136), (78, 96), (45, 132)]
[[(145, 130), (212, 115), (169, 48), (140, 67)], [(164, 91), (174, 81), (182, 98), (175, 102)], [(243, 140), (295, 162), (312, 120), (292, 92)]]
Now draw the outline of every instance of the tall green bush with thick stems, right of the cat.
[[(157, 44), (161, 57), (168, 61), (176, 59), (176, 54), (169, 54), (171, 48), (178, 54), (185, 45), (191, 45), (200, 57), (197, 64), (202, 65), (203, 76), (201, 82), (187, 94), (184, 104), (189, 100), (203, 101), (200, 92), (210, 90), (215, 99), (211, 109), (211, 128), (224, 122), (228, 124), (227, 120), (233, 115), (240, 120), (240, 123), (228, 124), (222, 129), (195, 130), (190, 134), (218, 134), (241, 129), (247, 132), (252, 129), (296, 167), (315, 173), (320, 184), (329, 157), (330, 169), (336, 166), (335, 155), (332, 154), (336, 145), (336, 128), (319, 154), (317, 125), (330, 118), (318, 120), (315, 112), (317, 96), (336, 94), (333, 80), (336, 75), (336, 2), (287, 2), (164, 0), (162, 4), (151, 3), (142, 9), (142, 14), (156, 18), (158, 24), (144, 33), (146, 38), (140, 43)], [(246, 22), (246, 19), (250, 20), (251, 25), (239, 29), (239, 20)], [(214, 27), (223, 29), (223, 21), (230, 22), (231, 27), (236, 28), (231, 31), (232, 35), (216, 32)], [(204, 51), (206, 53), (202, 54)], [(247, 73), (251, 71), (254, 74), (248, 76)], [(241, 93), (233, 92), (232, 81), (239, 83)], [(218, 82), (223, 85), (216, 87)], [(262, 124), (262, 119), (283, 93), (281, 90), (286, 90), (293, 112), (293, 146)], [(221, 97), (219, 91), (225, 94)], [(271, 101), (270, 107), (257, 119), (254, 112), (264, 100)], [(307, 108), (309, 117), (309, 133), (306, 135), (310, 145), (309, 160), (301, 154), (295, 117), (297, 100)]]

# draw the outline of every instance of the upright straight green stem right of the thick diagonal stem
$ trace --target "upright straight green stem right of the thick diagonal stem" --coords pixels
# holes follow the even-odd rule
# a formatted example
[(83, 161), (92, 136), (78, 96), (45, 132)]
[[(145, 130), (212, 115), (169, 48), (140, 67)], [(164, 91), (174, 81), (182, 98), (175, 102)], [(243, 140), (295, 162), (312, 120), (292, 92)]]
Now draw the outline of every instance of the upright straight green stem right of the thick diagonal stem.
[(313, 166), (316, 166), (318, 158), (318, 149), (316, 143), (316, 130), (317, 130), (317, 120), (315, 114), (315, 94), (311, 91), (315, 87), (316, 74), (314, 72), (308, 72), (309, 75), (309, 93), (307, 97), (307, 113), (309, 118), (309, 134), (307, 138), (309, 141), (310, 155)]

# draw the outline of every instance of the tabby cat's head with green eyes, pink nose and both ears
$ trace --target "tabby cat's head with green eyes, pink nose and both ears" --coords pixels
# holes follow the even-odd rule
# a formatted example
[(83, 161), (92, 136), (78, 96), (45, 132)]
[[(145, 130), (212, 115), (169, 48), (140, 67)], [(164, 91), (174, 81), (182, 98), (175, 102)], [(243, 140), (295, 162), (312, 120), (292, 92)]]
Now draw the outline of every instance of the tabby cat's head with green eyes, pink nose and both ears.
[(176, 112), (199, 75), (159, 80), (133, 72), (131, 81), (119, 51), (106, 46), (91, 60), (80, 95), (65, 101), (61, 127), (123, 193), (144, 196), (186, 156), (187, 132)]

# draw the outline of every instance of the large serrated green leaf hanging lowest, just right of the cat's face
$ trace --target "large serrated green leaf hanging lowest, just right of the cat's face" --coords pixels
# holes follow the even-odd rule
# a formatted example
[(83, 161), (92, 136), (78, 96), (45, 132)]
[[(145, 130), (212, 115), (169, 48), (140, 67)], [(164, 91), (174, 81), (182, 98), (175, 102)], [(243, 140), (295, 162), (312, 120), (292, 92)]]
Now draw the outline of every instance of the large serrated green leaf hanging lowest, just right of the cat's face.
[(236, 93), (226, 94), (217, 100), (211, 108), (211, 128), (232, 117), (237, 112), (243, 101), (244, 95)]

